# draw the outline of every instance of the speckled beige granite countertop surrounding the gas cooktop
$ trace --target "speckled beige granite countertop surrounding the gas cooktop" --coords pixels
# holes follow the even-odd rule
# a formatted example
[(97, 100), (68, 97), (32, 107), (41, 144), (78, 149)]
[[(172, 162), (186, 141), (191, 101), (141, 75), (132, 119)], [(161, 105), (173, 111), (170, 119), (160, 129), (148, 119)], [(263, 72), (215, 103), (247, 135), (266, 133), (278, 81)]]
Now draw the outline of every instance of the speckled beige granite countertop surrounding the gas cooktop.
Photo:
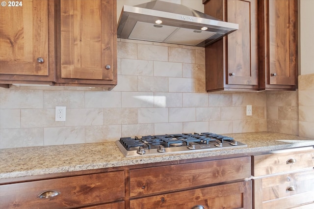
[(247, 148), (124, 157), (114, 142), (0, 150), (0, 179), (314, 146), (314, 139), (272, 132), (224, 134)]

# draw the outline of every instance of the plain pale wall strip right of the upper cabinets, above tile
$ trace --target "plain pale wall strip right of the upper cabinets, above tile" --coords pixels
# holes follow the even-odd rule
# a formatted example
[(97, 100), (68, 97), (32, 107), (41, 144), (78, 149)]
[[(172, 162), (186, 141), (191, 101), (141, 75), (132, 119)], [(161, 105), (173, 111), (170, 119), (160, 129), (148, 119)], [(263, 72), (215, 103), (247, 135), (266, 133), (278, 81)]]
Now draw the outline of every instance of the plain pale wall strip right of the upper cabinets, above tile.
[(314, 0), (300, 0), (299, 66), (300, 75), (314, 73)]

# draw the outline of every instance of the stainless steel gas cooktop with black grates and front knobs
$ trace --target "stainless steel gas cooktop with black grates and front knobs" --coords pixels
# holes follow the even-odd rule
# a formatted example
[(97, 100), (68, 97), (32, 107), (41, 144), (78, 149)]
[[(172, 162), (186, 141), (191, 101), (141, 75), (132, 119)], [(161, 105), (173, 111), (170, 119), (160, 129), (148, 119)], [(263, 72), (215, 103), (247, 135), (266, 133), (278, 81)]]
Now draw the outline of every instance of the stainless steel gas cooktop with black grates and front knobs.
[(209, 132), (122, 137), (116, 145), (125, 157), (247, 147), (232, 137)]

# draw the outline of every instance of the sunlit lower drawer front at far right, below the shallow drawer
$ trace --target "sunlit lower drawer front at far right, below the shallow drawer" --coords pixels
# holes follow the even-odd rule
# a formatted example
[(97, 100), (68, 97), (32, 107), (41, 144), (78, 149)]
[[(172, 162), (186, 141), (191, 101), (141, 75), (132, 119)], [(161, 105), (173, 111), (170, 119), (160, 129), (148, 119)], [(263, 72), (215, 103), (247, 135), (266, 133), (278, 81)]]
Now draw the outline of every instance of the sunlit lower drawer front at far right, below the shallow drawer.
[[(288, 209), (314, 201), (314, 170), (264, 177), (254, 180), (257, 185), (262, 191), (255, 190), (255, 209)], [(295, 190), (287, 191), (289, 187)]]

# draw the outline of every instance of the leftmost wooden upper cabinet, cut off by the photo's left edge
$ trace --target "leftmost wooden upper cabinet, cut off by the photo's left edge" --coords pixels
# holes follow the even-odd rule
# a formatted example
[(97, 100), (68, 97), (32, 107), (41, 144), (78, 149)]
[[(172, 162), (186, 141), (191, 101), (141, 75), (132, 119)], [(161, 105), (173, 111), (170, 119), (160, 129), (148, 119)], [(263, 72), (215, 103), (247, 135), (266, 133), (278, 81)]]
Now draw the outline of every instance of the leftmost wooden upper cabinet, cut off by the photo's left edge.
[(9, 2), (0, 9), (0, 83), (54, 81), (54, 1)]

